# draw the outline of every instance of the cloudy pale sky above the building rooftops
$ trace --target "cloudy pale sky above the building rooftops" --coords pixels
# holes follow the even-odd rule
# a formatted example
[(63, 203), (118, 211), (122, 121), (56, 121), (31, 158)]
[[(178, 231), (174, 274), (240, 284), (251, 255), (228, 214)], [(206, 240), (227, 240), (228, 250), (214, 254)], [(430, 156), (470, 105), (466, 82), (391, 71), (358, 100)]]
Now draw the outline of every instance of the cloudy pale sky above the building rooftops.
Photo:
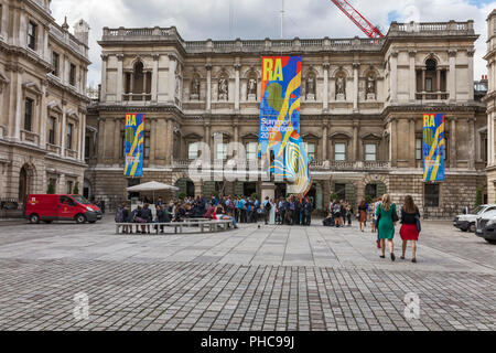
[[(89, 35), (88, 84), (100, 83), (101, 29), (152, 28), (175, 25), (186, 41), (227, 39), (279, 39), (282, 0), (53, 0), (52, 13), (57, 23), (71, 25), (86, 20)], [(496, 0), (351, 0), (370, 22), (387, 33), (391, 21), (475, 21), (481, 34), (476, 43), (475, 78), (486, 74), (482, 58), (486, 51), (486, 18)], [(283, 36), (352, 38), (365, 36), (330, 0), (284, 0)]]

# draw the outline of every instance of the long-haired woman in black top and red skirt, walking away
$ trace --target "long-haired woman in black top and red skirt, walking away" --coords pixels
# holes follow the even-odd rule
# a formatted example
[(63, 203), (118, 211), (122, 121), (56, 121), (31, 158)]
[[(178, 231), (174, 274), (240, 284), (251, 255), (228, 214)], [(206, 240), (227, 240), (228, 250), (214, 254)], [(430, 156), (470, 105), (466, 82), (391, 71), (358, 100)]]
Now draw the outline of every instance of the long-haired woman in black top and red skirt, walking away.
[(401, 228), (400, 236), (403, 240), (402, 244), (402, 256), (401, 259), (405, 260), (405, 253), (407, 252), (407, 242), (411, 242), (412, 257), (411, 261), (417, 263), (417, 240), (419, 239), (419, 228), (420, 225), (420, 213), (419, 208), (416, 206), (413, 199), (408, 195), (405, 197), (403, 206), (401, 207)]

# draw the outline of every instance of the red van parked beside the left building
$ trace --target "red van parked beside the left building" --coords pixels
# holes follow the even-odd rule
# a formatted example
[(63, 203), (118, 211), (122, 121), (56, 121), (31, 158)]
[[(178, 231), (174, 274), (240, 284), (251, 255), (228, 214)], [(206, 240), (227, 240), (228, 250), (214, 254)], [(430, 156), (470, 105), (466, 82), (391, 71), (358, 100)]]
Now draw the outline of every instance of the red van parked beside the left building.
[(28, 195), (25, 217), (31, 223), (52, 221), (76, 221), (95, 223), (101, 220), (101, 211), (80, 195)]

